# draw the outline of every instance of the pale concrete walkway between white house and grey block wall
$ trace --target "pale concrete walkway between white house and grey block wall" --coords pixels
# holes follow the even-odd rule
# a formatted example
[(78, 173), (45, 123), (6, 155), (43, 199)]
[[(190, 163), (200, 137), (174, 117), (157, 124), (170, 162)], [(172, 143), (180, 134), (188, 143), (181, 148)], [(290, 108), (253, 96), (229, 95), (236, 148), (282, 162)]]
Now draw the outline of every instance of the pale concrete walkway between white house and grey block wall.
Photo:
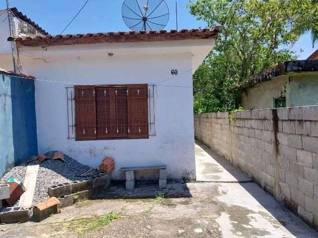
[(231, 165), (221, 155), (196, 141), (195, 144), (196, 180), (209, 182), (252, 181), (238, 168)]

